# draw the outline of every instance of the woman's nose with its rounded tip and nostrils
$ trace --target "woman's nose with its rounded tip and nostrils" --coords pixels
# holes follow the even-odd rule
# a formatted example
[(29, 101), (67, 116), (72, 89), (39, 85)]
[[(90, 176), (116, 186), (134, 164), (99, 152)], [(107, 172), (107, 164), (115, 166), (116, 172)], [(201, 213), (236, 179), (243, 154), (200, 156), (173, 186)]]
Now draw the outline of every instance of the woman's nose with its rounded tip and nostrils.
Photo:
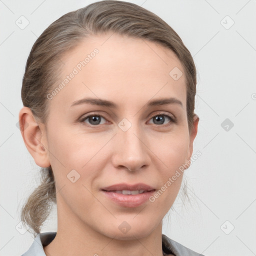
[(118, 169), (138, 171), (150, 163), (149, 148), (145, 133), (136, 128), (135, 124), (123, 131), (118, 128), (114, 136), (114, 153), (112, 163)]

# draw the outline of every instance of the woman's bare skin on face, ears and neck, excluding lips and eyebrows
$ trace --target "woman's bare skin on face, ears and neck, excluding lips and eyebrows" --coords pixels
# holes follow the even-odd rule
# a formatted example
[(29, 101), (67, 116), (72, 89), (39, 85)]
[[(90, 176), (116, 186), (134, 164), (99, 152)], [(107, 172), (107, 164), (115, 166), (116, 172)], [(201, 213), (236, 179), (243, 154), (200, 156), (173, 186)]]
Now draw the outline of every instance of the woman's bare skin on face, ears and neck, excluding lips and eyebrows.
[[(48, 100), (46, 126), (35, 121), (28, 107), (19, 113), (21, 127), (28, 123), (21, 128), (27, 149), (37, 165), (51, 165), (55, 178), (58, 229), (44, 247), (47, 256), (162, 255), (162, 218), (176, 198), (182, 175), (154, 202), (133, 208), (115, 204), (100, 189), (142, 182), (158, 190), (192, 155), (199, 118), (189, 134), (185, 76), (178, 58), (154, 42), (109, 36), (84, 39), (61, 58), (64, 79), (94, 48), (99, 51)], [(178, 80), (169, 75), (173, 67), (183, 72)], [(84, 97), (111, 100), (118, 108), (70, 107)], [(162, 97), (175, 97), (182, 106), (145, 106)], [(162, 112), (176, 122), (162, 114), (163, 121), (157, 122), (153, 117)], [(99, 124), (89, 118), (80, 121), (91, 113), (103, 116)], [(123, 118), (131, 123), (127, 131), (118, 126)], [(72, 169), (80, 175), (74, 183), (67, 177)], [(130, 226), (126, 233), (118, 228), (123, 221)]]

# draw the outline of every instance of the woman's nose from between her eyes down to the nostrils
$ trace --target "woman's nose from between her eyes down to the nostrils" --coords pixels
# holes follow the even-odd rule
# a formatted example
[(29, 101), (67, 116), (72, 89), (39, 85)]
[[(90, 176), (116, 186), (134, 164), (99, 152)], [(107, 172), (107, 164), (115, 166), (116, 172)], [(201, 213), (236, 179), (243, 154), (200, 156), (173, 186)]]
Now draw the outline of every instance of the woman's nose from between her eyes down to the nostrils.
[(135, 117), (130, 118), (131, 121), (129, 121), (127, 118), (123, 118), (118, 123), (114, 158), (116, 167), (121, 165), (129, 170), (136, 170), (148, 164), (149, 156), (146, 150), (146, 142), (144, 141), (145, 135), (135, 119)]

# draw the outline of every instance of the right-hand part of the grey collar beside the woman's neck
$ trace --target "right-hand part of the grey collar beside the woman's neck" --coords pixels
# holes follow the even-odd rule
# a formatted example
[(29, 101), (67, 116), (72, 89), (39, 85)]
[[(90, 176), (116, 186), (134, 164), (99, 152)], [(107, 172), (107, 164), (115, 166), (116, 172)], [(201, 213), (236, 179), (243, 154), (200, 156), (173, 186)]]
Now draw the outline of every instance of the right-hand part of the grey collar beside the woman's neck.
[(165, 234), (162, 234), (162, 250), (165, 254), (174, 254), (175, 256), (204, 256), (197, 253), (184, 245), (170, 239)]

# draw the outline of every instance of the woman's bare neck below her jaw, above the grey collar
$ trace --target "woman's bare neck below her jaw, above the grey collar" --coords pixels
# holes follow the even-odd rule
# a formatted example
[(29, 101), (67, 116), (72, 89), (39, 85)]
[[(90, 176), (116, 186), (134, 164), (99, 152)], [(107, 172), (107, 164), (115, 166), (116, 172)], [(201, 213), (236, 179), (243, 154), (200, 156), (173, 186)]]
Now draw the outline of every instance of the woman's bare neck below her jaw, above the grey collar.
[(106, 235), (107, 231), (96, 231), (73, 215), (68, 217), (68, 210), (61, 211), (64, 215), (60, 214), (60, 211), (57, 212), (57, 233), (55, 238), (43, 247), (46, 256), (162, 256), (162, 221), (152, 232), (148, 233), (146, 230), (143, 233), (132, 233), (129, 230), (125, 237), (118, 237), (113, 234)]

